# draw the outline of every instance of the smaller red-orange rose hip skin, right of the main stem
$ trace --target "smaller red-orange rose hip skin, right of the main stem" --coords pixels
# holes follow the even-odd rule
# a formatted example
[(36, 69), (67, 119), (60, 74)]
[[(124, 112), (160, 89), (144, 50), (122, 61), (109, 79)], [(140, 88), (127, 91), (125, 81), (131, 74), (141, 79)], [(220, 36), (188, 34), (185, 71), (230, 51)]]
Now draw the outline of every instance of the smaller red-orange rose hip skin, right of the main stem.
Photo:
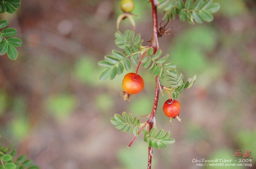
[(169, 118), (175, 118), (180, 113), (180, 103), (177, 100), (168, 99), (163, 105), (164, 114)]

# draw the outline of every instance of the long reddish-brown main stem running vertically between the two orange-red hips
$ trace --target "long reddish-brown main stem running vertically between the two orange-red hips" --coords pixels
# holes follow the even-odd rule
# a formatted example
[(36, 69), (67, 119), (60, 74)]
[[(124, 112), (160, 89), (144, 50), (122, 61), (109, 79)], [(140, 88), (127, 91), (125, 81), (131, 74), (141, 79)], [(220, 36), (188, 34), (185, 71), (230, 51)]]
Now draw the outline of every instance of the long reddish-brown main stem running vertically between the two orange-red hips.
[[(151, 5), (152, 5), (152, 21), (153, 21), (153, 36), (151, 39), (152, 47), (154, 49), (154, 53), (159, 49), (159, 44), (158, 44), (158, 39), (157, 39), (157, 34), (158, 34), (158, 23), (157, 23), (157, 9), (156, 9), (156, 4), (155, 0), (150, 0)], [(155, 122), (155, 114), (156, 114), (156, 108), (158, 104), (158, 99), (159, 99), (159, 92), (160, 88), (158, 85), (159, 81), (159, 76), (156, 76), (156, 90), (155, 90), (155, 98), (154, 98), (154, 104), (152, 108), (151, 115), (149, 116), (149, 132), (154, 126)], [(148, 147), (148, 162), (147, 162), (147, 169), (151, 169), (151, 164), (152, 164), (152, 147)]]

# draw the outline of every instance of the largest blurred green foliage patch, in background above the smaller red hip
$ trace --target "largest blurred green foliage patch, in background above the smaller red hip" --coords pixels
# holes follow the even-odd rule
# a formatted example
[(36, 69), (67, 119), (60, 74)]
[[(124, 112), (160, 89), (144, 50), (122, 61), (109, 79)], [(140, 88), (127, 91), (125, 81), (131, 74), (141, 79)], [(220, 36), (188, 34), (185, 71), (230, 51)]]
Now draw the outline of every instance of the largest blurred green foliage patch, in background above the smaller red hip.
[(212, 51), (217, 44), (217, 32), (205, 25), (196, 25), (184, 30), (174, 39), (171, 46), (171, 61), (180, 69), (191, 74), (199, 74), (211, 66), (205, 53)]

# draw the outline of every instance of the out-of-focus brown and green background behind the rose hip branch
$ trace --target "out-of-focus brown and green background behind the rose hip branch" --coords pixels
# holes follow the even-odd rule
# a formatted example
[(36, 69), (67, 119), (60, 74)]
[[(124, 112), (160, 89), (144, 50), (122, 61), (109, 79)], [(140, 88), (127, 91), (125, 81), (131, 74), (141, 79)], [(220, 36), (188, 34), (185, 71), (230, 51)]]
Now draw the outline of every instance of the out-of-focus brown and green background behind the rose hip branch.
[[(134, 0), (136, 33), (143, 45), (152, 36), (148, 0)], [(197, 74), (184, 90), (182, 124), (162, 113), (168, 96), (160, 96), (156, 127), (171, 132), (175, 144), (154, 150), (154, 169), (212, 169), (193, 159), (232, 159), (236, 150), (251, 151), (256, 161), (256, 1), (214, 0), (220, 10), (211, 23), (171, 21), (171, 35), (159, 39), (185, 79)], [(154, 77), (140, 69), (145, 89), (130, 102), (119, 97), (123, 75), (101, 82), (97, 62), (112, 49), (119, 0), (22, 0), (15, 14), (1, 14), (17, 29), (23, 45), (18, 59), (0, 57), (0, 144), (13, 142), (41, 169), (142, 169), (147, 144), (139, 136), (110, 123), (122, 111), (149, 114)], [(163, 17), (159, 10), (159, 21)], [(128, 21), (121, 31), (131, 29)], [(131, 71), (135, 71), (135, 67)], [(141, 117), (144, 123), (147, 118)], [(237, 162), (235, 162), (237, 163)], [(224, 168), (224, 167), (223, 167)]]

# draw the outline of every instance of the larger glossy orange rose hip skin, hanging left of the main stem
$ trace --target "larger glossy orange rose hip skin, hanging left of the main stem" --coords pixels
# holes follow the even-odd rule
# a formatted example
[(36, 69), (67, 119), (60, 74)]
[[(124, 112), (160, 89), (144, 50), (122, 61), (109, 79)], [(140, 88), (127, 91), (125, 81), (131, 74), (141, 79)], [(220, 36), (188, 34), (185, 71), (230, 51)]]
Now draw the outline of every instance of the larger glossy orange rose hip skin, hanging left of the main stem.
[(144, 81), (140, 75), (128, 73), (123, 77), (122, 87), (128, 94), (137, 94), (144, 88)]

